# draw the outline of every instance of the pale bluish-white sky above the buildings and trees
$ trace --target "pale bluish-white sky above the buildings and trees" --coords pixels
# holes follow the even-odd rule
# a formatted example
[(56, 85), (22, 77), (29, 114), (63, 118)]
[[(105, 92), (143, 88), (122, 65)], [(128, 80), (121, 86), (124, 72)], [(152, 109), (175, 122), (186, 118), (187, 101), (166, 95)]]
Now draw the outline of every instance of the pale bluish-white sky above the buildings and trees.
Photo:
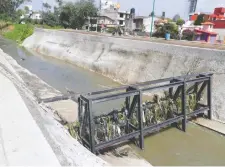
[[(53, 5), (55, 0), (32, 0), (34, 10), (40, 10), (42, 1)], [(69, 1), (69, 0), (67, 0)], [(76, 0), (70, 0), (75, 2)], [(96, 0), (99, 4), (100, 0)], [(112, 0), (119, 2), (121, 10), (130, 10), (134, 7), (137, 15), (149, 15), (152, 11), (153, 0)], [(218, 6), (225, 7), (225, 0), (198, 0), (197, 11), (213, 12), (213, 9)], [(156, 0), (155, 13), (161, 15), (166, 12), (167, 17), (173, 17), (175, 14), (180, 14), (181, 17), (187, 19), (188, 16), (188, 0)]]

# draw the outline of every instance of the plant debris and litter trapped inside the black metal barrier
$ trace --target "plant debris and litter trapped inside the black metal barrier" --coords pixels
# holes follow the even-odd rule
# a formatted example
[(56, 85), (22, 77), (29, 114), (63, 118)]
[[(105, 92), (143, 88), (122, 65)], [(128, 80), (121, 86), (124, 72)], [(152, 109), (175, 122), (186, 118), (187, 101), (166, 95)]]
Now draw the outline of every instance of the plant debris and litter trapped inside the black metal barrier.
[[(196, 110), (196, 94), (189, 94), (186, 96), (186, 99), (187, 113)], [(156, 125), (170, 118), (174, 118), (181, 113), (181, 98), (178, 97), (174, 100), (169, 97), (168, 92), (164, 92), (162, 97), (154, 95), (152, 101), (146, 101), (142, 103), (142, 111), (143, 126), (148, 127), (151, 125)], [(132, 132), (132, 128), (129, 128), (130, 125), (133, 126), (133, 128), (138, 129), (138, 113), (137, 105), (131, 115), (129, 115), (127, 109), (123, 106), (119, 110), (113, 109), (107, 115), (94, 117), (93, 122), (95, 125), (95, 144), (106, 142)], [(79, 132), (79, 126), (76, 124), (76, 126), (70, 125), (69, 127), (71, 135), (77, 138), (78, 135), (75, 134), (75, 132)], [(83, 136), (86, 136), (86, 140), (89, 141), (88, 124), (86, 125), (85, 134)]]

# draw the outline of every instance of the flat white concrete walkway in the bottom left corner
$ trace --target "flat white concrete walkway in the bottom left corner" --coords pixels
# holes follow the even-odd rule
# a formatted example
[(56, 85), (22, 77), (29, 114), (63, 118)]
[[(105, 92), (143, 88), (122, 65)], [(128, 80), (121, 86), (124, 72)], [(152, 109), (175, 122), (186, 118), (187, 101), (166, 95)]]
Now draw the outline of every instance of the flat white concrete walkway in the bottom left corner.
[(0, 165), (60, 166), (13, 83), (0, 82)]

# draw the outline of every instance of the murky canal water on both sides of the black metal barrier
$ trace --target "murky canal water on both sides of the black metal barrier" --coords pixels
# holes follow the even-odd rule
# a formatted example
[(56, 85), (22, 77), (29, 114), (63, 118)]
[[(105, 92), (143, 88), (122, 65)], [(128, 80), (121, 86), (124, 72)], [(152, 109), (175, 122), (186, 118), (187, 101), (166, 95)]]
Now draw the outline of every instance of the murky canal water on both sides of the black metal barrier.
[[(63, 93), (66, 87), (82, 93), (119, 86), (106, 77), (69, 63), (34, 56), (7, 40), (0, 39), (0, 47), (21, 66)], [(188, 125), (186, 133), (171, 128), (145, 138), (144, 151), (132, 147), (152, 165), (225, 165), (225, 137), (193, 124)]]

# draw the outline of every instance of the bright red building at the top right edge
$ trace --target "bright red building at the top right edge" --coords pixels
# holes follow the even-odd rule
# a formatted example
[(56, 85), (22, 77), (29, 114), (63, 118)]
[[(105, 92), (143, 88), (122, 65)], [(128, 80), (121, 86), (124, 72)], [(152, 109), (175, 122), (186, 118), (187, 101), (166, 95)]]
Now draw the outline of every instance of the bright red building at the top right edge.
[(195, 13), (193, 15), (190, 15), (190, 20), (191, 21), (195, 21), (198, 18), (198, 15), (204, 15), (204, 21), (210, 21), (214, 24), (213, 28), (221, 28), (221, 29), (225, 29), (225, 8), (223, 7), (219, 7), (219, 8), (215, 8), (214, 9), (214, 13), (213, 14), (206, 14), (206, 13)]

